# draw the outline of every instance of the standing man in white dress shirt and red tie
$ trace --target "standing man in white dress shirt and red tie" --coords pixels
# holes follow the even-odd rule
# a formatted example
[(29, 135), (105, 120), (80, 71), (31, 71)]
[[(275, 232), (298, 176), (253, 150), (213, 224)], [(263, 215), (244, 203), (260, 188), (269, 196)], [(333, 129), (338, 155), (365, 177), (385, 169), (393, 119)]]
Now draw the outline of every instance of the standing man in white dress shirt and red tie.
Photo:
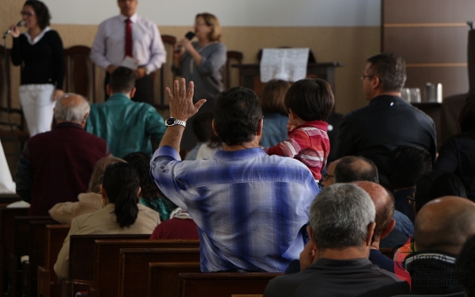
[(118, 0), (117, 3), (121, 14), (100, 23), (90, 58), (107, 71), (105, 86), (125, 57), (137, 60), (137, 91), (132, 100), (153, 104), (153, 82), (149, 74), (165, 63), (162, 37), (154, 22), (135, 13), (138, 0)]

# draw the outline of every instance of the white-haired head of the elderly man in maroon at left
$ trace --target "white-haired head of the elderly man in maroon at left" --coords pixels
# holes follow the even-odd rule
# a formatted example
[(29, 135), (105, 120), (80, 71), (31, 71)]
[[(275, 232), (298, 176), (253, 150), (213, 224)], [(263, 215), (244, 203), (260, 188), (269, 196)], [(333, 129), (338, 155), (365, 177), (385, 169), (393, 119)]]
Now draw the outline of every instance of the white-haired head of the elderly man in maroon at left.
[(91, 106), (83, 96), (66, 93), (56, 101), (54, 119), (57, 122), (68, 121), (83, 124), (86, 114), (90, 111)]

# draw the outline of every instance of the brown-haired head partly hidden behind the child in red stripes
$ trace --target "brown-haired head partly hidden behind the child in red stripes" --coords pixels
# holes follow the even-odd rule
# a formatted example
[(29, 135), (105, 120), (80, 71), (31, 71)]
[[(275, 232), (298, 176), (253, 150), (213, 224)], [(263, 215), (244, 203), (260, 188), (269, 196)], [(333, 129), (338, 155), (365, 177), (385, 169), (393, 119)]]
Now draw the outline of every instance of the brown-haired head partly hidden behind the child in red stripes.
[(282, 113), (287, 115), (289, 111), (284, 105), (284, 98), (289, 87), (289, 82), (281, 80), (267, 82), (260, 98), (262, 113)]

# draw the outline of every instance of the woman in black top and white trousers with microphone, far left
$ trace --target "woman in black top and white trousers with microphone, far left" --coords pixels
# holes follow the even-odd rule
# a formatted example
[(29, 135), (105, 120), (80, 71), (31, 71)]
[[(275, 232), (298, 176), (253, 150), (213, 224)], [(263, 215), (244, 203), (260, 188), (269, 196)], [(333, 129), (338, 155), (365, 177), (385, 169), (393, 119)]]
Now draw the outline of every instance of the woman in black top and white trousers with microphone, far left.
[(11, 27), (12, 63), (22, 65), (20, 102), (30, 137), (51, 130), (55, 101), (63, 94), (65, 62), (63, 42), (51, 30), (50, 12), (41, 1), (28, 0), (21, 16), (27, 32)]

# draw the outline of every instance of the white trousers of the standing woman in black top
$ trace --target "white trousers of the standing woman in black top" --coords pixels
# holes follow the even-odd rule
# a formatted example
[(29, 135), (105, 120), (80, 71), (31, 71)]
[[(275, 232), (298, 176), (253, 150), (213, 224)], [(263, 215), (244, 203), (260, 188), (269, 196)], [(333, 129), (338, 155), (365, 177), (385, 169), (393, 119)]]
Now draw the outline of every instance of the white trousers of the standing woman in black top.
[(53, 109), (56, 104), (52, 100), (54, 86), (52, 84), (26, 84), (19, 90), (21, 108), (27, 121), (29, 136), (51, 130)]

